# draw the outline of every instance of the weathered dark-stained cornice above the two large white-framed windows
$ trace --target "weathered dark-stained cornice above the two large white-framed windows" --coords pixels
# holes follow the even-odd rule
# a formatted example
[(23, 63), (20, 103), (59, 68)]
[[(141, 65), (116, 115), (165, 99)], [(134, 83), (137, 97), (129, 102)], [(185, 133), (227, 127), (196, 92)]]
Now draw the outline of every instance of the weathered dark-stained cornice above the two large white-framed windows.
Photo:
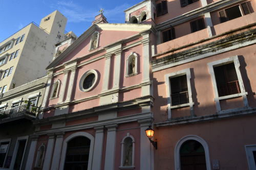
[(159, 71), (255, 43), (256, 29), (253, 29), (153, 60), (151, 61), (152, 70)]

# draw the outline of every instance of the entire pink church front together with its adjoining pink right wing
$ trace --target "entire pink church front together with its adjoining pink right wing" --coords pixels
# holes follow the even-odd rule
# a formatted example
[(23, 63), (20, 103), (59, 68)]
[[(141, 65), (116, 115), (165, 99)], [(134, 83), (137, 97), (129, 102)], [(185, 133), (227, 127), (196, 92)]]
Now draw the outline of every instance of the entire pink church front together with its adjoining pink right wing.
[(27, 168), (255, 169), (255, 9), (146, 0), (123, 24), (96, 16), (57, 44)]

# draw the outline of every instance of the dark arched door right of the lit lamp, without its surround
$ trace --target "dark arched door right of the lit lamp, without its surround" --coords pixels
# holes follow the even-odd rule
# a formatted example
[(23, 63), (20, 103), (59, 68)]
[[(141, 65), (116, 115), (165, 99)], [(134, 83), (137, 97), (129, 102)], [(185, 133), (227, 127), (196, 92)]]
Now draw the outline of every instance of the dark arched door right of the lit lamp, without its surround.
[(185, 141), (180, 148), (181, 170), (206, 170), (203, 145), (196, 140)]

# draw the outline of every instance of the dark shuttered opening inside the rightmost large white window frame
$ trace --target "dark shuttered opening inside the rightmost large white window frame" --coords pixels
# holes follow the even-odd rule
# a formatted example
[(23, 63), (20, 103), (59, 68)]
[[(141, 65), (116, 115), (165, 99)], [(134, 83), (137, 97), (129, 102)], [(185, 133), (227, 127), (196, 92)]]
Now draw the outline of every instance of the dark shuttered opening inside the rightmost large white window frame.
[(214, 74), (219, 96), (241, 92), (234, 63), (214, 67)]

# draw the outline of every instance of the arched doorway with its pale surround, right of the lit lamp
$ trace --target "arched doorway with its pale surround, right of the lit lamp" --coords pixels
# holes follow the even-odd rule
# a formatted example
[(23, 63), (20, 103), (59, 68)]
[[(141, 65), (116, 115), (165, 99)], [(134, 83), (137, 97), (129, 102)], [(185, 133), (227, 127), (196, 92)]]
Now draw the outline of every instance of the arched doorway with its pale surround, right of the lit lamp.
[(185, 136), (175, 148), (175, 169), (210, 169), (207, 143), (199, 136)]

